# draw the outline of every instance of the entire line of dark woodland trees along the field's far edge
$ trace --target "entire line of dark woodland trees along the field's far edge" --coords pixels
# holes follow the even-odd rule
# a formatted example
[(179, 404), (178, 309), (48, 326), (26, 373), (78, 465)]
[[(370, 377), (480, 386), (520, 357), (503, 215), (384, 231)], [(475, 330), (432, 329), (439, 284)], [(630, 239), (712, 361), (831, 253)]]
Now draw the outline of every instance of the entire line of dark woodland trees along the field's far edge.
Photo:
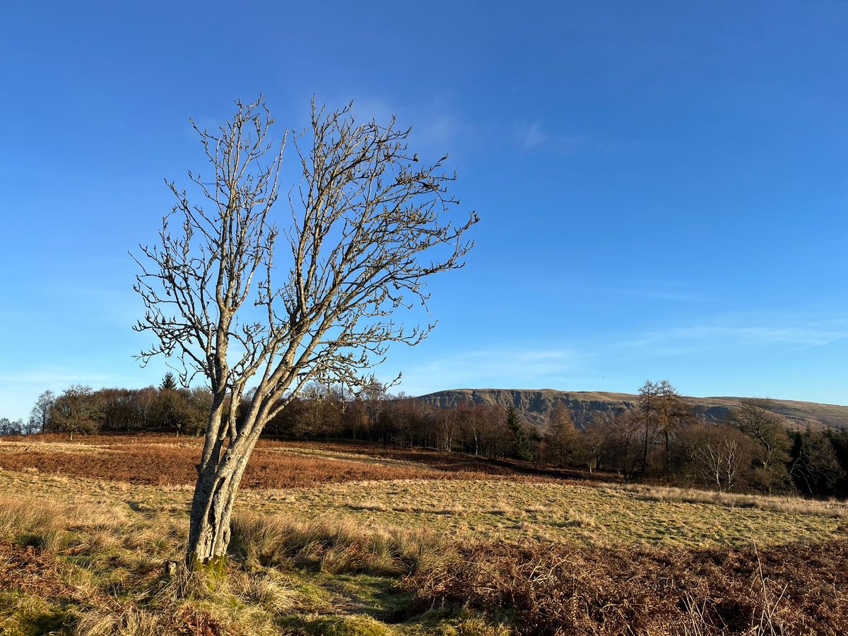
[[(202, 434), (211, 394), (177, 388), (75, 385), (43, 393), (14, 432), (176, 432)], [(7, 421), (8, 422), (8, 421)], [(597, 413), (581, 428), (564, 404), (542, 430), (516, 410), (488, 404), (441, 409), (392, 395), (379, 382), (354, 396), (310, 384), (265, 427), (276, 438), (350, 439), (431, 448), (535, 464), (612, 471), (625, 481), (654, 480), (719, 491), (848, 495), (848, 431), (793, 431), (773, 405), (742, 400), (724, 421), (704, 421), (669, 382), (645, 382), (628, 410)]]

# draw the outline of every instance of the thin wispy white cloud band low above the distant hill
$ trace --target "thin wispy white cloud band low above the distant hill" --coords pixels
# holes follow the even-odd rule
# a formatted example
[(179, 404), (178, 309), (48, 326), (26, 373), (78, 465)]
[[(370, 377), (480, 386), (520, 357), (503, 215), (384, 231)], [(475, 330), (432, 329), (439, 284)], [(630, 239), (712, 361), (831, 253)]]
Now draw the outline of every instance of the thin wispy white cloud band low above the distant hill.
[[(689, 298), (683, 290), (662, 286), (644, 295)], [(697, 298), (691, 294), (692, 298)], [(430, 393), (445, 388), (567, 388), (625, 391), (631, 387), (633, 366), (654, 368), (650, 360), (702, 359), (721, 352), (728, 359), (754, 350), (826, 347), (848, 338), (848, 318), (839, 315), (815, 319), (805, 315), (701, 315), (683, 324), (654, 328), (634, 327), (618, 335), (595, 333), (560, 340), (558, 346), (504, 349), (471, 349), (404, 366), (402, 388), (407, 393)], [(678, 363), (675, 363), (678, 364)], [(673, 367), (672, 367), (673, 368)], [(647, 372), (647, 371), (645, 371)]]

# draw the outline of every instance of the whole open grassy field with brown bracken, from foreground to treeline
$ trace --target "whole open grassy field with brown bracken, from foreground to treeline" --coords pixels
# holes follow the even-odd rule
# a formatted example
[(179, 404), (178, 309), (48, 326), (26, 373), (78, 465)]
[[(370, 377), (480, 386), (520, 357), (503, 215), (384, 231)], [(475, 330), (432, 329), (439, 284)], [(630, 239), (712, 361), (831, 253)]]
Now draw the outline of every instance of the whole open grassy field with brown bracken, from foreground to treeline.
[[(521, 633), (522, 625), (525, 633), (553, 633), (550, 625), (533, 632), (529, 619), (503, 599), (469, 601), (463, 608), (454, 598), (456, 589), (445, 582), (464, 567), (477, 572), (473, 568), (480, 567), (481, 549), (474, 546), (480, 545), (489, 546), (483, 554), (499, 554), (510, 564), (524, 562), (524, 557), (505, 545), (524, 546), (533, 558), (571, 550), (561, 563), (600, 559), (609, 567), (610, 562), (671, 559), (657, 555), (677, 555), (670, 562), (683, 564), (680, 555), (695, 554), (710, 561), (747, 559), (753, 564), (760, 559), (756, 552), (753, 561), (755, 545), (764, 554), (782, 550), (772, 546), (818, 545), (828, 555), (848, 544), (848, 506), (840, 502), (717, 497), (675, 488), (530, 477), (438, 453), (264, 443), (236, 512), (226, 580), (183, 572), (167, 577), (163, 563), (179, 560), (185, 541), (198, 441), (47, 440), (0, 440), (3, 634)], [(610, 561), (609, 555), (616, 556)], [(834, 562), (823, 558), (818, 566), (800, 566), (805, 575), (799, 573), (798, 580), (812, 577), (827, 583), (828, 577), (838, 576), (832, 572)], [(562, 569), (548, 565), (550, 572)], [(652, 566), (644, 567), (648, 571)], [(656, 567), (656, 581), (668, 577)], [(813, 576), (811, 567), (821, 572)], [(691, 568), (689, 563), (683, 569)], [(482, 572), (489, 576), (493, 570)], [(516, 570), (510, 581), (523, 580), (527, 572)], [(727, 573), (728, 580), (736, 580), (734, 572)], [(745, 572), (746, 585), (758, 583), (753, 570)], [(789, 576), (780, 572), (773, 577)], [(835, 599), (848, 605), (842, 583), (835, 578), (831, 583), (833, 592), (822, 593), (828, 600), (821, 603)], [(792, 604), (807, 594), (796, 593), (790, 603), (778, 589), (770, 591), (773, 583), (762, 572), (758, 584), (765, 590), (765, 605), (750, 611), (760, 611), (761, 622), (769, 603), (774, 611), (782, 604), (797, 614)], [(784, 591), (791, 584), (787, 579)], [(561, 587), (557, 583), (550, 589)], [(533, 592), (533, 599), (544, 589)], [(510, 589), (508, 595), (516, 598), (516, 591)], [(596, 594), (599, 600), (602, 596)], [(576, 596), (569, 598), (574, 602)], [(717, 619), (709, 618), (706, 605), (698, 603), (712, 601), (693, 599), (687, 606), (681, 598), (679, 611), (692, 621), (685, 633), (757, 633), (742, 631), (754, 625), (754, 614), (735, 631), (722, 619), (726, 632), (711, 632), (710, 621)], [(832, 611), (815, 606), (830, 620)], [(669, 611), (662, 616), (671, 616)], [(707, 616), (700, 623), (699, 611)], [(806, 618), (798, 616), (792, 624), (803, 625)], [(828, 632), (822, 624), (825, 631), (819, 633), (840, 633)], [(607, 621), (607, 629), (611, 625)], [(562, 633), (615, 632), (600, 627)]]

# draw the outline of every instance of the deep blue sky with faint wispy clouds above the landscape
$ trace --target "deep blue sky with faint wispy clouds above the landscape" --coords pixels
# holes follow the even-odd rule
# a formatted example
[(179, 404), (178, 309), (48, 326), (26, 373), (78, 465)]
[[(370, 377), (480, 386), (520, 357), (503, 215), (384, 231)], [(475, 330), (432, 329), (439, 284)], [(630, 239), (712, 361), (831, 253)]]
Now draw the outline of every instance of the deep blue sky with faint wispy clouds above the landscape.
[(127, 252), (265, 93), (398, 115), (477, 209), (439, 325), (380, 375), (442, 388), (848, 404), (848, 3), (3, 3), (0, 416), (141, 387)]

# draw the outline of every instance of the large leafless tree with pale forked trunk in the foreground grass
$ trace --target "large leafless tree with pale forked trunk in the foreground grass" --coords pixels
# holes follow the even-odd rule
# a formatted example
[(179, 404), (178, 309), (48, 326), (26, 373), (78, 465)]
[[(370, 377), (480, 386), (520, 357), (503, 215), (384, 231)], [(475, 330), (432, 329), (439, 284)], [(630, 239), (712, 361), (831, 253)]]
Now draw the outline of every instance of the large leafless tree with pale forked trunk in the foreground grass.
[[(360, 385), (390, 343), (419, 343), (432, 325), (404, 329), (393, 311), (426, 306), (427, 279), (463, 265), (463, 234), (477, 222), (474, 213), (456, 226), (443, 220), (459, 203), (447, 190), (455, 175), (446, 156), (424, 164), (409, 152), (410, 129), (313, 101), (307, 131), (291, 137), (299, 181), (278, 226), (286, 137), (271, 142), (273, 123), (259, 98), (237, 102), (218, 131), (194, 126), (213, 172), (189, 172), (202, 203), (169, 183), (176, 205), (137, 259), (147, 311), (136, 329), (155, 337), (142, 362), (173, 355), (183, 384), (200, 374), (212, 392), (187, 547), (194, 568), (223, 566), (238, 484), (265, 423), (306, 382)], [(255, 390), (243, 403), (248, 380)]]

